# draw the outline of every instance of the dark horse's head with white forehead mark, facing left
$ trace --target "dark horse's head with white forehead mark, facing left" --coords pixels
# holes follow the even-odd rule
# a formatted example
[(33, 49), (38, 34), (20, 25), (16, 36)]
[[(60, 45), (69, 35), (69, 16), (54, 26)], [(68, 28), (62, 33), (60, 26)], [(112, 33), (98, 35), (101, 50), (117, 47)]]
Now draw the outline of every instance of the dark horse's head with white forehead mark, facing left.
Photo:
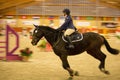
[(43, 32), (40, 30), (39, 26), (34, 25), (35, 29), (33, 31), (33, 35), (32, 35), (32, 45), (37, 45), (38, 41), (43, 37)]

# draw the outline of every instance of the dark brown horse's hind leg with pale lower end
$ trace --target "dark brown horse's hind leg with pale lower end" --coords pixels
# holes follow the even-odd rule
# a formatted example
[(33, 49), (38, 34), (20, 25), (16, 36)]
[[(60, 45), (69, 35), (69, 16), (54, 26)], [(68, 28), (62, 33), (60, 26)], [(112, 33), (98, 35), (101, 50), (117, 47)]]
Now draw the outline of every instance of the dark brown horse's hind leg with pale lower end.
[(91, 49), (91, 50), (88, 50), (87, 53), (100, 61), (100, 65), (99, 65), (100, 71), (102, 71), (105, 74), (109, 74), (109, 71), (105, 70), (106, 55), (101, 50)]

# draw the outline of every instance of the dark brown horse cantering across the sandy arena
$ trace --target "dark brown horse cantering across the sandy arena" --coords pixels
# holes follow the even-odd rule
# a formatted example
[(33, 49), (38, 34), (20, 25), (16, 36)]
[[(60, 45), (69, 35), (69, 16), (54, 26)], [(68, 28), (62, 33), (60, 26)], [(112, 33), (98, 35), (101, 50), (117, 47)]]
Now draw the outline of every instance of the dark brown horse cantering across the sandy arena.
[(82, 33), (83, 39), (73, 42), (75, 48), (66, 49), (65, 46), (67, 43), (62, 38), (62, 31), (57, 31), (49, 26), (34, 26), (35, 29), (33, 31), (31, 44), (33, 46), (37, 45), (39, 40), (44, 37), (52, 46), (54, 53), (62, 61), (63, 68), (69, 72), (69, 80), (71, 80), (73, 76), (79, 76), (79, 73), (70, 68), (67, 57), (83, 53), (84, 51), (100, 61), (99, 69), (101, 72), (110, 74), (109, 71), (105, 70), (106, 55), (101, 51), (101, 46), (105, 45), (107, 50), (114, 55), (119, 54), (119, 50), (112, 48), (104, 36), (94, 32)]

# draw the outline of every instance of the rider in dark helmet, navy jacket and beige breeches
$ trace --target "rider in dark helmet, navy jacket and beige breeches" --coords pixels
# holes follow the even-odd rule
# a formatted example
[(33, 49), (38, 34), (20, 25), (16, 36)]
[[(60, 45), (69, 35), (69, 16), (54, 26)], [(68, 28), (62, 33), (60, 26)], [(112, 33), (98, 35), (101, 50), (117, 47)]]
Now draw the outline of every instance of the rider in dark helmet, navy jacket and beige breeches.
[(70, 15), (70, 10), (66, 8), (63, 10), (63, 13), (65, 16), (65, 22), (57, 30), (60, 30), (60, 31), (64, 30), (65, 31), (64, 36), (68, 40), (68, 43), (69, 43), (68, 48), (73, 49), (74, 45), (72, 44), (72, 41), (70, 39), (70, 35), (75, 32), (76, 28), (73, 25), (73, 20), (72, 20), (71, 15)]

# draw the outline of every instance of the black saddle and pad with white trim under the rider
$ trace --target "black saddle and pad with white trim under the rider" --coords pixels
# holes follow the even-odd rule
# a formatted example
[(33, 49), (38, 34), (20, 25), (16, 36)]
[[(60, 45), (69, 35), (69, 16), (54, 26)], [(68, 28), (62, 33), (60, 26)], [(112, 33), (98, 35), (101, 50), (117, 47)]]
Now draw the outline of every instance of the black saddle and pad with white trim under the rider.
[[(64, 35), (62, 35), (62, 39), (63, 41), (68, 42), (67, 38)], [(70, 35), (70, 39), (72, 42), (81, 41), (83, 39), (83, 34), (75, 31), (74, 33)]]

